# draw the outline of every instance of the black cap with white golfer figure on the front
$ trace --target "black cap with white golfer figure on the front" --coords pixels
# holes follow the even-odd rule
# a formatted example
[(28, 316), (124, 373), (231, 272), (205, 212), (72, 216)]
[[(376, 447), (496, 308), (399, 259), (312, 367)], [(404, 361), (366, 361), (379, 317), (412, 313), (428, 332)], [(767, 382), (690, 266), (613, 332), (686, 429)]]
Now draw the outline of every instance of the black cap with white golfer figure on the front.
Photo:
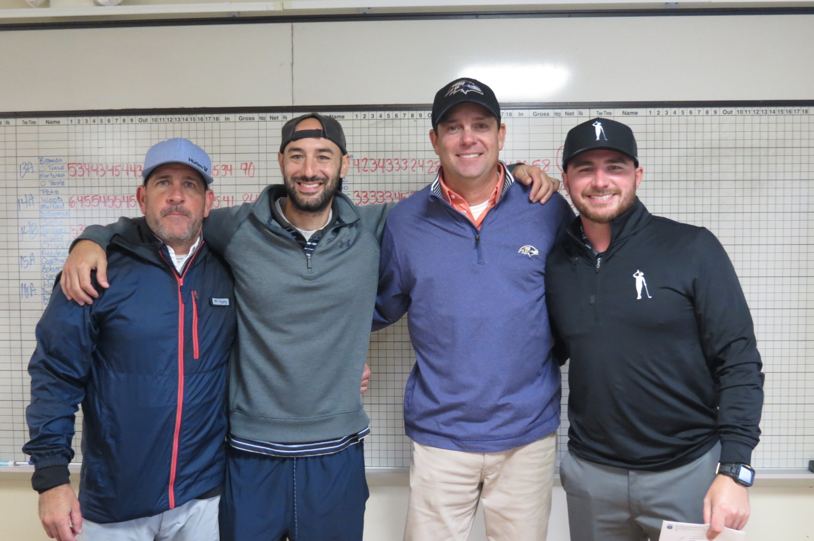
[(639, 167), (636, 137), (626, 124), (609, 118), (586, 120), (568, 131), (565, 145), (562, 146), (562, 170), (567, 169), (568, 162), (584, 151), (606, 149), (621, 152), (633, 159)]

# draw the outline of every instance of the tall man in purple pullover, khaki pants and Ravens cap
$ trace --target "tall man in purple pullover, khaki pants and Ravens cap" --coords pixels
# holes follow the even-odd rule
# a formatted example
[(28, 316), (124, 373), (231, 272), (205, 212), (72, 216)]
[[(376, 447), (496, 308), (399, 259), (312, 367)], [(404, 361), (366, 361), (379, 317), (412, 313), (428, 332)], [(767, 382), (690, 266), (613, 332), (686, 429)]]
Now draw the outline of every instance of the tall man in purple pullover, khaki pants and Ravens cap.
[(529, 203), (498, 160), (500, 117), (487, 85), (444, 85), (430, 132), (438, 176), (385, 226), (374, 328), (409, 312), (416, 353), (405, 390), (410, 541), (464, 541), (479, 500), (488, 539), (548, 530), (560, 373), (545, 256), (574, 215), (559, 194)]

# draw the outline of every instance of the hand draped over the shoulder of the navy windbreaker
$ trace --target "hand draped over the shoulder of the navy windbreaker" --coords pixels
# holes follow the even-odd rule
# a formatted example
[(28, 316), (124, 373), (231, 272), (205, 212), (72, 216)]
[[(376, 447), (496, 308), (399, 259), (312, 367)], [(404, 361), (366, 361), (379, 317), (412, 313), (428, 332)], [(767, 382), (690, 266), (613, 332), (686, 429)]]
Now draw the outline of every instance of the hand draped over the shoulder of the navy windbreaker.
[(80, 306), (94, 303), (99, 294), (90, 281), (93, 270), (99, 286), (110, 287), (107, 283), (107, 254), (96, 242), (81, 240), (73, 247), (62, 268), (60, 284), (68, 300), (75, 300)]

